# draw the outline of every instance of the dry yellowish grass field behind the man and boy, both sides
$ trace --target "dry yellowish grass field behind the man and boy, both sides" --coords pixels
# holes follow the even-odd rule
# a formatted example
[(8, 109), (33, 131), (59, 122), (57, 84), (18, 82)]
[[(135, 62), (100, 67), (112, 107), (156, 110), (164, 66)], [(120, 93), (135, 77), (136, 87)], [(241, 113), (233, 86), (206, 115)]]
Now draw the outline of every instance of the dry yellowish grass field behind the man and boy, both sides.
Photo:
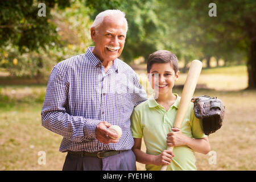
[[(234, 70), (238, 71), (234, 73)], [(216, 78), (221, 78), (219, 74), (223, 72), (223, 69), (205, 70), (201, 76), (205, 76), (205, 80), (213, 84), (210, 77), (215, 75)], [(233, 84), (237, 82), (237, 77), (246, 77), (242, 66), (226, 68), (225, 73), (234, 73), (226, 77)], [(222, 76), (225, 77), (224, 75)], [(217, 154), (217, 163), (209, 164), (211, 156), (196, 152), (197, 169), (255, 170), (256, 92), (240, 90), (240, 84), (246, 85), (246, 79), (235, 84), (236, 91), (222, 89), (225, 85), (222, 81), (218, 80), (218, 84), (214, 86), (216, 90), (196, 89), (194, 94), (217, 96), (226, 107), (223, 126), (209, 135), (211, 150)], [(40, 112), (45, 91), (46, 85), (0, 86), (0, 170), (62, 169), (66, 155), (59, 152), (62, 137), (41, 125)], [(174, 92), (181, 95), (182, 90), (175, 88)], [(145, 150), (144, 146), (142, 148)], [(38, 163), (39, 151), (46, 152), (45, 165)], [(144, 165), (137, 163), (137, 169), (144, 170)]]

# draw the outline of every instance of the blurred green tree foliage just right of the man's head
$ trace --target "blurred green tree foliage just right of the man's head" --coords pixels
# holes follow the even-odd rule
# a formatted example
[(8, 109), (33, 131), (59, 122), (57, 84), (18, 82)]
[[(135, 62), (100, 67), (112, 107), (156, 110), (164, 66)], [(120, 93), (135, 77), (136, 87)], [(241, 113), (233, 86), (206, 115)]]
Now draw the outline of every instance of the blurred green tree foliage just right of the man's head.
[[(127, 63), (139, 56), (146, 60), (150, 53), (163, 48), (159, 39), (163, 35), (163, 24), (156, 14), (157, 4), (156, 0), (117, 0), (110, 3), (112, 9), (119, 9), (126, 14), (129, 29), (121, 57)], [(102, 6), (97, 1), (93, 7), (92, 20), (101, 11), (109, 9), (109, 6)]]

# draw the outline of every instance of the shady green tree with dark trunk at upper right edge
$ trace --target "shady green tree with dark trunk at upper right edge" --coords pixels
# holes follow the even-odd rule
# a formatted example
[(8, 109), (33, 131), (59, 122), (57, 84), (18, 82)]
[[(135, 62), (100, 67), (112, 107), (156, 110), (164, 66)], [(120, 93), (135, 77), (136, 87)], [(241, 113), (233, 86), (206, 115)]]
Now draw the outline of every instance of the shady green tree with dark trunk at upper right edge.
[[(166, 3), (166, 11), (171, 10), (170, 21), (177, 19), (178, 30), (184, 30), (182, 33), (191, 30), (191, 38), (185, 35), (184, 43), (193, 42), (204, 55), (228, 57), (228, 54), (237, 51), (246, 52), (248, 88), (256, 89), (256, 19), (253, 18), (256, 17), (255, 1), (161, 2)], [(209, 16), (210, 3), (216, 4), (217, 16)]]

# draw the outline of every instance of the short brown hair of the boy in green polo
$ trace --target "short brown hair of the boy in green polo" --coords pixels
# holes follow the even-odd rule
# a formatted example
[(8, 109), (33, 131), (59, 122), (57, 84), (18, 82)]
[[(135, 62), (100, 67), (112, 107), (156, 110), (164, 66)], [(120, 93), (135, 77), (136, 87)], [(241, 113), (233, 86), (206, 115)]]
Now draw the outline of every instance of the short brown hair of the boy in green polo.
[(179, 71), (177, 57), (174, 53), (166, 50), (159, 50), (151, 53), (147, 59), (147, 73), (150, 73), (150, 69), (155, 63), (170, 63), (172, 68), (174, 68), (175, 73)]

